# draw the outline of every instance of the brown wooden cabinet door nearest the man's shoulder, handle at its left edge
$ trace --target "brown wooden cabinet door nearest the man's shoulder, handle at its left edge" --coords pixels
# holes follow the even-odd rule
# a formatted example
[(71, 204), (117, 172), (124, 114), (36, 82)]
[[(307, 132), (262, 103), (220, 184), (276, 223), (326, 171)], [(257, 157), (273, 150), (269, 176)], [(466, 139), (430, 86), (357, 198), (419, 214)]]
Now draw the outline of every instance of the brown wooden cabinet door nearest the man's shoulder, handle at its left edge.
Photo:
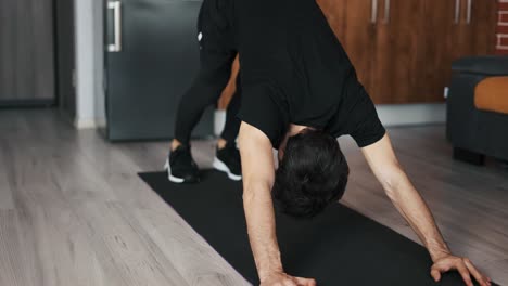
[(424, 18), (422, 0), (382, 0), (377, 24), (373, 65), (376, 103), (424, 101), (418, 86), (424, 53), (419, 29)]

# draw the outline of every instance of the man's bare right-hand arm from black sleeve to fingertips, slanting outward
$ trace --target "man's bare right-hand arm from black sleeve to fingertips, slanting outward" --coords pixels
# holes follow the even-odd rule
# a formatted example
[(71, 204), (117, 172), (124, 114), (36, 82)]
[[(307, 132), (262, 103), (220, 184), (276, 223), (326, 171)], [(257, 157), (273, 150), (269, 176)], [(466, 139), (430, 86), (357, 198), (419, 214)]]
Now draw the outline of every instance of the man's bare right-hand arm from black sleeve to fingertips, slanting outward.
[(452, 255), (429, 207), (398, 164), (388, 134), (379, 142), (361, 148), (361, 152), (386, 195), (429, 250), (434, 262), (432, 277), (439, 281), (442, 273), (457, 270), (467, 285), (473, 285), (471, 275), (480, 285), (491, 285), (490, 280), (469, 259)]

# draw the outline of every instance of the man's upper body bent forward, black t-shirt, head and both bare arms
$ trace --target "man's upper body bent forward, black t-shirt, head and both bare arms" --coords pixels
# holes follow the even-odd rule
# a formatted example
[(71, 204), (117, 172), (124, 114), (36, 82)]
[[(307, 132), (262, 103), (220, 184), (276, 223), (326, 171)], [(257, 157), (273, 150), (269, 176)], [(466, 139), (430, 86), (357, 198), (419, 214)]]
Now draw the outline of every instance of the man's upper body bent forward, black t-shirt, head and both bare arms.
[[(347, 162), (336, 138), (351, 134), (401, 214), (429, 250), (431, 275), (456, 270), (491, 285), (467, 258), (452, 255), (402, 169), (374, 106), (315, 0), (237, 0), (242, 74), (239, 146), (247, 232), (263, 286), (316, 285), (284, 273), (272, 196), (309, 218), (343, 195)], [(272, 148), (279, 151), (275, 170)], [(338, 274), (340, 275), (340, 273)]]

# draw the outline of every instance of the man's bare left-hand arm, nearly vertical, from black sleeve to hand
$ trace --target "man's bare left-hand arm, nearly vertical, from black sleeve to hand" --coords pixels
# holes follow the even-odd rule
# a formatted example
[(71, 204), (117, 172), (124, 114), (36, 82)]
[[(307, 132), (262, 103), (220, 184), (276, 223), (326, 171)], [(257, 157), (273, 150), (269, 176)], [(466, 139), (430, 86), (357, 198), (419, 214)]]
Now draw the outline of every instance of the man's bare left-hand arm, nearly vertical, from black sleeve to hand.
[(242, 158), (243, 207), (262, 285), (314, 286), (313, 280), (292, 277), (282, 269), (271, 199), (275, 166), (269, 139), (257, 128), (242, 122), (239, 146)]

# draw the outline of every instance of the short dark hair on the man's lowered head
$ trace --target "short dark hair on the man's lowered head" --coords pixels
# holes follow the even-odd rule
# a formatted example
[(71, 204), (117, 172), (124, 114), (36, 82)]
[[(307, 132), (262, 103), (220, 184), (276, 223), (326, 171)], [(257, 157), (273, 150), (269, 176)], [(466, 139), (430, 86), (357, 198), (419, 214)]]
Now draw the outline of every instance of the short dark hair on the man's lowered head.
[(332, 135), (304, 129), (288, 139), (272, 195), (282, 211), (313, 218), (344, 194), (350, 168)]

